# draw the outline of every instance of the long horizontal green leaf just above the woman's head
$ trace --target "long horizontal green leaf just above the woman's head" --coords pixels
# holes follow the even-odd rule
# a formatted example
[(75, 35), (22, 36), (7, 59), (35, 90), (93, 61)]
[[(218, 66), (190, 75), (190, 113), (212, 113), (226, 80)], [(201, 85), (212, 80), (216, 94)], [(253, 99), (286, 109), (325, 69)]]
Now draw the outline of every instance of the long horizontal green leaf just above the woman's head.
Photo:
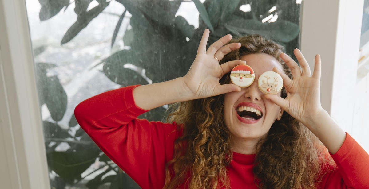
[(283, 43), (292, 41), (300, 32), (299, 25), (290, 21), (277, 20), (276, 22), (262, 23), (258, 20), (243, 19), (237, 16), (228, 21), (225, 28), (235, 35), (259, 34)]

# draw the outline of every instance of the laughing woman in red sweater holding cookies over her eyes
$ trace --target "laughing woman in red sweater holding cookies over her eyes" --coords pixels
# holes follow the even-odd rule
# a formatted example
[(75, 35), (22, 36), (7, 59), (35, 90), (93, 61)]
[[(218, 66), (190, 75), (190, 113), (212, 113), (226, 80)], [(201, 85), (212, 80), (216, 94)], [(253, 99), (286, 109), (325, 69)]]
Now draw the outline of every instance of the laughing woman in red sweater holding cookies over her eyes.
[[(111, 160), (143, 189), (369, 188), (369, 155), (321, 108), (319, 55), (311, 75), (297, 49), (302, 71), (260, 36), (226, 35), (206, 50), (208, 35), (186, 76), (108, 91), (76, 107), (80, 126)], [(251, 66), (256, 81), (279, 73), (284, 89), (266, 95), (257, 82), (231, 84), (239, 64)], [(172, 123), (137, 119), (175, 102)], [(240, 116), (240, 106), (261, 115)]]

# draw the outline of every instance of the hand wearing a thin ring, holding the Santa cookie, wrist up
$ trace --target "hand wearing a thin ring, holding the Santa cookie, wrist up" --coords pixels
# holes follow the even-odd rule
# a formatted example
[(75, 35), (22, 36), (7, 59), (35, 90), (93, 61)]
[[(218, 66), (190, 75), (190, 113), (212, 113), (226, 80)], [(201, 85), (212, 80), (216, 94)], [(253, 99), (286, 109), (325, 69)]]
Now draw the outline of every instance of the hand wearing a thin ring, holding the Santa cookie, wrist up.
[[(230, 72), (239, 64), (246, 64), (242, 60), (234, 60), (219, 65), (218, 60), (223, 59), (224, 55), (232, 50), (240, 48), (240, 43), (230, 43), (223, 46), (232, 39), (230, 34), (223, 36), (214, 42), (206, 50), (206, 44), (210, 31), (206, 29), (201, 38), (197, 55), (188, 73), (182, 77), (184, 85), (196, 98), (206, 98), (232, 91), (241, 91), (235, 84), (221, 85), (219, 80), (224, 74)], [(215, 58), (217, 57), (217, 59)]]

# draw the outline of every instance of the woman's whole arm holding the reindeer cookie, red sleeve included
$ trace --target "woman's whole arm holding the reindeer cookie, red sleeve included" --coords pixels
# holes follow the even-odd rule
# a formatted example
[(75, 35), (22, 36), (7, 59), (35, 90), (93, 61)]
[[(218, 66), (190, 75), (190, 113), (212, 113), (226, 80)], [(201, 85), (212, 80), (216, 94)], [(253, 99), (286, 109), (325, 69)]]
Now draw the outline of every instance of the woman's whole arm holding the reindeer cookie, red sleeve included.
[[(283, 85), (287, 91), (286, 99), (277, 95), (265, 95), (275, 104), (295, 119), (303, 123), (320, 139), (335, 160), (338, 170), (328, 174), (325, 178), (327, 186), (343, 185), (352, 188), (369, 188), (369, 155), (354, 139), (334, 122), (327, 111), (320, 104), (320, 56), (315, 56), (314, 72), (300, 50), (295, 49), (294, 54), (299, 60), (301, 70), (296, 62), (286, 54), (280, 57), (291, 69), (293, 80), (283, 71), (276, 68), (273, 71), (283, 78)], [(347, 139), (349, 137), (349, 139)], [(334, 179), (332, 179), (334, 178)]]

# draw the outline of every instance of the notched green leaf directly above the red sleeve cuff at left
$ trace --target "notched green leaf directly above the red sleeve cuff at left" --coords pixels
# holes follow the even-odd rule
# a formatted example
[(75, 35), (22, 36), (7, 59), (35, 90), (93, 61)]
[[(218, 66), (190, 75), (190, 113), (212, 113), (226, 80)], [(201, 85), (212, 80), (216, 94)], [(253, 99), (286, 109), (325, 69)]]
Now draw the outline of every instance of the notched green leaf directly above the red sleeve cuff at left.
[(124, 68), (124, 64), (134, 62), (131, 50), (121, 50), (105, 60), (103, 66), (104, 74), (114, 83), (128, 86), (132, 84), (148, 84), (147, 81), (136, 71)]

